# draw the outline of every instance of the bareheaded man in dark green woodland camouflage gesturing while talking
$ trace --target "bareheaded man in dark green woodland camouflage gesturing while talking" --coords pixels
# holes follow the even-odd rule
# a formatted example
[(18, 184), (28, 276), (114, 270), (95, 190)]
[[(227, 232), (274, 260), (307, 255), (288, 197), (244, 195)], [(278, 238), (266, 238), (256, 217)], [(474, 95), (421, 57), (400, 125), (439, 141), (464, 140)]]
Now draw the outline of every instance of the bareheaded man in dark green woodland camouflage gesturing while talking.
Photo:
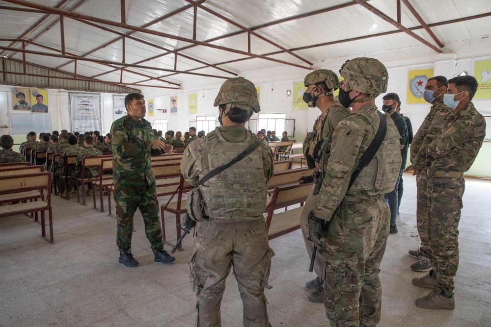
[(137, 267), (138, 261), (131, 253), (133, 216), (140, 209), (145, 224), (145, 234), (152, 245), (154, 261), (171, 263), (175, 259), (164, 251), (162, 228), (159, 220), (159, 202), (150, 155), (172, 151), (172, 146), (154, 139), (152, 126), (145, 117), (145, 100), (139, 93), (125, 98), (128, 114), (111, 126), (113, 149), (114, 201), (116, 202), (119, 262), (127, 267)]

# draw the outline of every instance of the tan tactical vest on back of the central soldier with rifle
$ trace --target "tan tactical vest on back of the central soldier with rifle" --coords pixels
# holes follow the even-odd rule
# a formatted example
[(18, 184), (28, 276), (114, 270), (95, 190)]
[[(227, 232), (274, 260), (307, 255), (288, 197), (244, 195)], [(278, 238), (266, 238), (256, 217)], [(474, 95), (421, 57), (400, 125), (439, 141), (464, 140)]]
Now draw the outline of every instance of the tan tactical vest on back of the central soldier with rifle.
[[(247, 132), (246, 140), (227, 142), (216, 129), (205, 137), (203, 167), (200, 178), (209, 171), (229, 163), (246, 150), (257, 136)], [(203, 212), (209, 219), (255, 220), (266, 207), (267, 185), (263, 171), (261, 147), (199, 186), (204, 202)]]

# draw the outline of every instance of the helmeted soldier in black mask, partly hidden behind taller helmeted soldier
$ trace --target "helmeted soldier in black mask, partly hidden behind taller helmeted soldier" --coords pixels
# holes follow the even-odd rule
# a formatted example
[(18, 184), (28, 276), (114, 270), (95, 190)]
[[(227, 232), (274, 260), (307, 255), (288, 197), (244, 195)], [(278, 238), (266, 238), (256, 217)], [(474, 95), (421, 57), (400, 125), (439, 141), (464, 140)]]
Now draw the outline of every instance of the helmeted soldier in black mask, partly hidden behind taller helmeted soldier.
[[(351, 111), (333, 98), (332, 93), (339, 88), (339, 79), (332, 71), (327, 69), (313, 71), (305, 76), (303, 83), (307, 87), (303, 100), (307, 102), (310, 108), (317, 107), (321, 111), (321, 115), (314, 122), (312, 132), (303, 141), (303, 154), (307, 158), (308, 167), (315, 168), (316, 171), (320, 171), (325, 176), (325, 164), (329, 157), (332, 133), (339, 122), (351, 114)], [(306, 180), (300, 180), (300, 183), (312, 180), (313, 178), (309, 176)], [(317, 195), (313, 195), (313, 191), (314, 187), (312, 187), (300, 215), (303, 241), (309, 257), (312, 257), (314, 244), (308, 240), (308, 214), (317, 201)], [(306, 283), (306, 286), (313, 290), (307, 297), (310, 302), (322, 303), (324, 301), (323, 270), (324, 257), (322, 253), (317, 252), (314, 265), (317, 277)]]

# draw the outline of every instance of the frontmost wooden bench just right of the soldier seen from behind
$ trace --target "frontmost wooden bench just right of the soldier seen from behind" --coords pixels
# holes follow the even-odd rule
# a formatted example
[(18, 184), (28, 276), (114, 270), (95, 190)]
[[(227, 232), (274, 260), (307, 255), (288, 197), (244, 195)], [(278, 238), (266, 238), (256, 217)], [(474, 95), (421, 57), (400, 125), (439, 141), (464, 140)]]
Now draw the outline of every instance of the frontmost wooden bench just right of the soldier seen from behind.
[[(274, 188), (273, 196), (266, 206), (266, 226), (268, 239), (272, 240), (300, 228), (300, 214), (303, 202), (312, 189), (313, 183), (290, 184)], [(288, 206), (300, 203), (300, 208), (288, 210)], [(274, 214), (274, 210), (286, 208), (286, 211)]]

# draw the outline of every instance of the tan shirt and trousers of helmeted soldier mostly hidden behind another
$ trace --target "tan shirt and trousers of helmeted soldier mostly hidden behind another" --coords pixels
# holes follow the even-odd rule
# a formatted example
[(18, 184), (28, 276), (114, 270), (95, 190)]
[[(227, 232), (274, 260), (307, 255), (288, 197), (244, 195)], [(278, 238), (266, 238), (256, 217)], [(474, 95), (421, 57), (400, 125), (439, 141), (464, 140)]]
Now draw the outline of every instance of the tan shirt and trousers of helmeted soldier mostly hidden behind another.
[[(303, 154), (305, 157), (307, 155), (310, 157), (310, 163), (315, 164), (315, 167), (325, 175), (325, 163), (327, 163), (327, 158), (329, 157), (329, 149), (331, 145), (331, 137), (334, 129), (339, 124), (340, 121), (345, 119), (351, 114), (351, 110), (343, 107), (339, 101), (334, 101), (327, 108), (327, 111), (322, 113), (317, 117), (314, 126), (312, 127), (312, 133), (308, 135), (303, 141)], [(315, 162), (312, 159), (314, 152), (314, 147), (317, 143), (322, 142), (322, 147), (319, 149), (317, 156), (322, 157), (322, 161)], [(318, 146), (319, 147), (319, 146)], [(309, 165), (310, 166), (310, 165)], [(310, 166), (312, 167), (312, 166)], [(309, 257), (312, 257), (312, 252), (314, 250), (314, 243), (308, 240), (309, 237), (309, 227), (308, 227), (308, 214), (313, 209), (314, 204), (317, 202), (317, 195), (313, 195), (314, 187), (310, 190), (310, 193), (303, 205), (302, 213), (300, 215), (300, 227), (302, 230), (303, 241), (305, 243), (305, 248), (307, 249)], [(324, 271), (324, 255), (320, 251), (316, 252), (314, 272), (317, 276), (322, 277)]]

